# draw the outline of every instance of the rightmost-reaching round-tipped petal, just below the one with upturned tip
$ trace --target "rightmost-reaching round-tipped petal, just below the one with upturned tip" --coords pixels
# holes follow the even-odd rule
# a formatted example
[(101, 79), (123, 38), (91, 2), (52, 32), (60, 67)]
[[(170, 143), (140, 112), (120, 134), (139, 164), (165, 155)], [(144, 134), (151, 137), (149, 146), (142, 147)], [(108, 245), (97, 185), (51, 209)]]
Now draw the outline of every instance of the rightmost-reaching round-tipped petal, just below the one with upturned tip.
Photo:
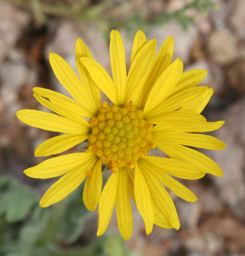
[(222, 141), (205, 134), (164, 132), (158, 136), (162, 141), (206, 148), (207, 150), (224, 150), (224, 148), (226, 148), (226, 145)]

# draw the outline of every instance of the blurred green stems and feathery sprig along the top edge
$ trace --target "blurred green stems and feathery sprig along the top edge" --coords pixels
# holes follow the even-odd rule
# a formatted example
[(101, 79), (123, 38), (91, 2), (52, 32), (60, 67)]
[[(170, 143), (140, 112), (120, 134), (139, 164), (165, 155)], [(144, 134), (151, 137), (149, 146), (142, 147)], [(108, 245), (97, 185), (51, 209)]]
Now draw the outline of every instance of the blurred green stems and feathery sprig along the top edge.
[[(107, 36), (111, 29), (124, 28), (130, 34), (135, 34), (138, 29), (145, 32), (152, 26), (163, 26), (171, 20), (176, 20), (184, 29), (195, 22), (194, 17), (187, 15), (190, 9), (207, 13), (216, 5), (211, 0), (193, 0), (183, 8), (155, 15), (146, 13), (143, 6), (149, 5), (147, 0), (141, 1), (100, 1), (93, 4), (93, 1), (71, 1), (66, 4), (61, 1), (48, 3), (42, 0), (9, 0), (10, 2), (30, 9), (34, 17), (40, 24), (48, 22), (48, 16), (69, 17), (83, 22), (94, 22), (98, 24), (100, 30)], [(160, 0), (159, 0), (160, 1)], [(120, 12), (121, 10), (121, 12)], [(126, 10), (126, 11), (124, 11)], [(130, 10), (130, 12), (128, 12)]]

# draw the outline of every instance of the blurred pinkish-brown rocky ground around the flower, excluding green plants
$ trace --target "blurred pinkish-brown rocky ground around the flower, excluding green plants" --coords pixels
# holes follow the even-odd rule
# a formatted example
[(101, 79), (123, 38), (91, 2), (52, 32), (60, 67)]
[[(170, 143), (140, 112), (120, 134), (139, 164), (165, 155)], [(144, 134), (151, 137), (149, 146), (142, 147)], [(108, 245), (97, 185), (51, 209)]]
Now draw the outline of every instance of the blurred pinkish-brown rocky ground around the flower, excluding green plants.
[[(181, 0), (165, 1), (169, 11), (181, 8)], [(214, 88), (204, 114), (208, 120), (226, 120), (213, 135), (227, 148), (208, 152), (222, 168), (224, 177), (206, 175), (202, 180), (185, 181), (197, 196), (194, 204), (174, 197), (179, 212), (179, 231), (157, 226), (145, 235), (143, 221), (134, 208), (134, 232), (127, 246), (139, 255), (242, 256), (245, 254), (245, 1), (216, 0), (218, 8), (208, 15), (190, 10), (195, 25), (184, 31), (175, 22), (155, 26), (148, 38), (157, 38), (158, 48), (174, 36), (174, 58), (181, 57), (185, 70), (209, 71), (203, 84)], [(158, 9), (161, 1), (152, 1)], [(152, 7), (152, 8), (153, 8)], [(129, 59), (132, 38), (123, 34)], [(48, 24), (35, 23), (32, 14), (8, 1), (0, 3), (0, 174), (7, 173), (35, 186), (43, 193), (49, 181), (30, 179), (23, 170), (44, 158), (34, 158), (35, 147), (54, 134), (29, 127), (16, 119), (19, 109), (44, 110), (32, 96), (35, 86), (66, 93), (49, 66), (50, 52), (65, 58), (75, 68), (74, 47), (81, 37), (94, 58), (108, 71), (108, 39), (96, 24), (52, 17)], [(72, 152), (71, 150), (70, 152)], [(44, 185), (43, 185), (44, 184)], [(117, 233), (114, 217), (110, 232)]]

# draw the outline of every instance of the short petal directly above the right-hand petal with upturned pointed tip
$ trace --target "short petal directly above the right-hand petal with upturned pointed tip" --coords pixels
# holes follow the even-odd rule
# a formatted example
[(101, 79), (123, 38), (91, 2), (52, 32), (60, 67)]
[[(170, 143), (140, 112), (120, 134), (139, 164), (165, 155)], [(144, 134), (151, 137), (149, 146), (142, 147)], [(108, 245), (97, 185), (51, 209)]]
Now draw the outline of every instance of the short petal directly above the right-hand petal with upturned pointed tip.
[(205, 122), (206, 118), (200, 114), (197, 114), (194, 111), (185, 111), (185, 110), (178, 110), (178, 111), (171, 111), (168, 113), (163, 113), (161, 116), (152, 119), (146, 119), (147, 121), (159, 124), (160, 126), (165, 126), (165, 124), (172, 123), (173, 125), (185, 125), (189, 122)]

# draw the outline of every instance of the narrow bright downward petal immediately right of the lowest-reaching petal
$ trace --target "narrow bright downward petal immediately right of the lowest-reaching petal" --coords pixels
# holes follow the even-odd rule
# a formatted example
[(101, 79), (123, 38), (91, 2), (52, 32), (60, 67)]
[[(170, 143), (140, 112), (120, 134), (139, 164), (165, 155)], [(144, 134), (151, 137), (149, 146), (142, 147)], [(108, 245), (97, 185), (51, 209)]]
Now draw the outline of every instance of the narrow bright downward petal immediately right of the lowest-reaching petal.
[(149, 234), (153, 228), (154, 215), (151, 205), (150, 191), (138, 162), (136, 163), (135, 168), (135, 199), (140, 215), (145, 222), (146, 234)]

